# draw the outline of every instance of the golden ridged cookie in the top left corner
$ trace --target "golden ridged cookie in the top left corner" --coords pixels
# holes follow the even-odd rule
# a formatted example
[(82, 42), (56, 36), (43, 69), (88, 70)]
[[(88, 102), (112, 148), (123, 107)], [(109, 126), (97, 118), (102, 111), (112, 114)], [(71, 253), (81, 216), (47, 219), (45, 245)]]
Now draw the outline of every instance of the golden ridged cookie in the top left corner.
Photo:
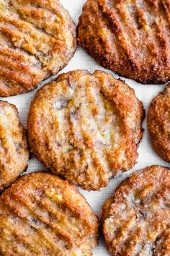
[(76, 50), (76, 25), (59, 0), (0, 0), (0, 96), (26, 93)]

